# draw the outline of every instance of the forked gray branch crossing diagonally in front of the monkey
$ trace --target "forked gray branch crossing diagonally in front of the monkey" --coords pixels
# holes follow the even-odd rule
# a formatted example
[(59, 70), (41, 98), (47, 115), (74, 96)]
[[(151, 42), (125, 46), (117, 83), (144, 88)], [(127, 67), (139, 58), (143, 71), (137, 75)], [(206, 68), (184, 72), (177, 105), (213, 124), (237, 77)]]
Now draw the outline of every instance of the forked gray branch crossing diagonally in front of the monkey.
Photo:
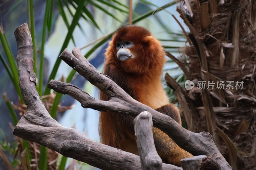
[[(212, 136), (208, 132), (194, 133), (184, 129), (179, 123), (171, 117), (161, 114), (156, 110), (134, 100), (108, 76), (99, 73), (82, 55), (78, 48), (72, 50), (73, 55), (65, 49), (60, 55), (60, 58), (65, 61), (70, 67), (75, 69), (79, 74), (84, 76), (93, 85), (98, 87), (102, 92), (109, 96), (108, 101), (99, 100), (92, 101), (88, 99), (88, 94), (84, 94), (85, 98), (77, 99), (83, 107), (89, 107), (96, 110), (112, 111), (120, 114), (129, 114), (136, 117), (143, 111), (148, 111), (152, 114), (153, 126), (162, 130), (171, 137), (182, 149), (190, 152), (194, 156), (207, 155), (211, 156), (223, 169), (231, 169), (230, 165), (219, 152), (218, 148), (212, 140)], [(54, 83), (54, 84), (53, 84)], [(57, 85), (58, 84), (58, 85)], [(61, 86), (63, 84), (63, 86)], [(53, 90), (59, 90), (63, 94), (68, 93), (72, 85), (57, 82), (52, 80), (49, 87)], [(60, 90), (62, 89), (62, 90)], [(75, 89), (73, 89), (75, 90)], [(82, 95), (81, 90), (70, 94), (72, 97)], [(80, 93), (80, 94), (79, 94)], [(85, 93), (85, 92), (84, 92)]]

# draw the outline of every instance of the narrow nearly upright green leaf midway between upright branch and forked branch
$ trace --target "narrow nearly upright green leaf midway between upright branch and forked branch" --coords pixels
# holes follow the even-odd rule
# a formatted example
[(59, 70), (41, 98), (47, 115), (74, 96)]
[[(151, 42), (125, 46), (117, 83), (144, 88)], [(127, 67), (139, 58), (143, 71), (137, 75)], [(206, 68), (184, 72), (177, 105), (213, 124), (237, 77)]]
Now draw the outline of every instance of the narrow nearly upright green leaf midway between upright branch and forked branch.
[(43, 33), (42, 33), (41, 54), (40, 54), (40, 71), (39, 71), (39, 80), (38, 80), (39, 96), (42, 96), (43, 94), (44, 44), (45, 44), (45, 37), (46, 37), (46, 30), (47, 30), (47, 23), (48, 23), (50, 8), (51, 8), (51, 0), (46, 0), (45, 13), (44, 13), (44, 25), (43, 25)]

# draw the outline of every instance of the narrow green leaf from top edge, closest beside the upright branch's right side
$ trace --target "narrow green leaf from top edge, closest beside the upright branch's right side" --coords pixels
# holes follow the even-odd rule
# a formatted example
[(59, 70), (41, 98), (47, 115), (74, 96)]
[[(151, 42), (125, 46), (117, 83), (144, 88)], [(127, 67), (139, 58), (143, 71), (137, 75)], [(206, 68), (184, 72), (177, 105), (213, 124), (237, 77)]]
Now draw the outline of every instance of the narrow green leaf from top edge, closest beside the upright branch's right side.
[(33, 0), (28, 0), (28, 18), (29, 18), (29, 30), (31, 32), (31, 39), (33, 43), (33, 69), (37, 76), (37, 67), (36, 67), (36, 28), (35, 28), (35, 15), (34, 15), (34, 4)]

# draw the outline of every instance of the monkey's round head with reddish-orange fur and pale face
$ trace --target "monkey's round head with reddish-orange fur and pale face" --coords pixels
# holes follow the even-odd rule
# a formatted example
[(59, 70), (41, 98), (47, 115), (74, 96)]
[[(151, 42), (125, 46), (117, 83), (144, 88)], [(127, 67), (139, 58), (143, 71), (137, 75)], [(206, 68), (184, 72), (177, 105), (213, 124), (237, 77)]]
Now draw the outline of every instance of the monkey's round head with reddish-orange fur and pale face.
[(111, 67), (133, 76), (149, 70), (161, 74), (165, 61), (161, 43), (147, 29), (134, 25), (117, 29), (105, 55)]

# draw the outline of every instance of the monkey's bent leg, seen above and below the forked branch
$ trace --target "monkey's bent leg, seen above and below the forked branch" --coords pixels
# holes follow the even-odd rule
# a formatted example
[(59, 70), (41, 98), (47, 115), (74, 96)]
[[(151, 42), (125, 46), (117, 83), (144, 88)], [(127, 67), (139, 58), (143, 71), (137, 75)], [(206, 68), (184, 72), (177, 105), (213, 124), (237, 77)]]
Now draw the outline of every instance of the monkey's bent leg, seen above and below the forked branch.
[[(172, 117), (176, 122), (181, 124), (179, 110), (172, 104), (164, 105), (156, 111)], [(168, 135), (163, 131), (153, 127), (153, 137), (156, 151), (162, 158), (163, 162), (180, 166), (180, 159), (193, 157), (192, 154), (181, 149)]]

